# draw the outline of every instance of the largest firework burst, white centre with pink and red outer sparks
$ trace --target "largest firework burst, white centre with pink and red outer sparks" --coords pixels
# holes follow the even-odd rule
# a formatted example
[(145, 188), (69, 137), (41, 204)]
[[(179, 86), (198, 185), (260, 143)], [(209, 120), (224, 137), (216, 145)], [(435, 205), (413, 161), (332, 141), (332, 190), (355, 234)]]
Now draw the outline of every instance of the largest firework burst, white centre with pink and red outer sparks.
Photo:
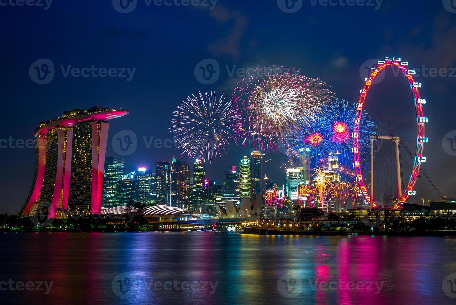
[(318, 120), (322, 105), (333, 98), (326, 83), (302, 76), (295, 69), (256, 69), (244, 77), (232, 95), (243, 118), (238, 137), (242, 145), (275, 151), (285, 126)]

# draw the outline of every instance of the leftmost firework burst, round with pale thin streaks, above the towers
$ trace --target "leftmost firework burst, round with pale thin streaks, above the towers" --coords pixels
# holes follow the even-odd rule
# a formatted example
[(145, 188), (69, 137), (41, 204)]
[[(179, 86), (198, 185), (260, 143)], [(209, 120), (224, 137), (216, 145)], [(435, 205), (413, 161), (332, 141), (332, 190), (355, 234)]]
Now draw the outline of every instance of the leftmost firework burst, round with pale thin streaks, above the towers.
[(182, 154), (212, 162), (213, 157), (221, 156), (230, 143), (235, 143), (240, 116), (223, 95), (218, 99), (215, 92), (198, 93), (177, 107), (170, 130)]

